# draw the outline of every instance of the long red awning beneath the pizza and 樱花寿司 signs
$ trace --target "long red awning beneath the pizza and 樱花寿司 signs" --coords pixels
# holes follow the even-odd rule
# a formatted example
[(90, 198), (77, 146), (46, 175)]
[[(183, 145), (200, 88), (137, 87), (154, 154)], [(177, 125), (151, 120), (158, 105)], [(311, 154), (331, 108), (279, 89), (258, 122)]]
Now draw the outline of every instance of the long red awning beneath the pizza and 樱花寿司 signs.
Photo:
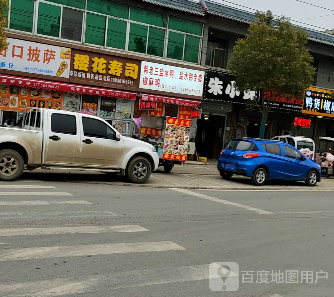
[(97, 88), (92, 86), (82, 86), (74, 84), (65, 84), (53, 81), (43, 81), (39, 79), (29, 79), (17, 76), (9, 76), (0, 74), (0, 83), (11, 86), (22, 86), (29, 88), (39, 88), (55, 90), (60, 92), (70, 92), (88, 95), (99, 95), (105, 97), (117, 97), (136, 100), (137, 93), (123, 92), (107, 88)]

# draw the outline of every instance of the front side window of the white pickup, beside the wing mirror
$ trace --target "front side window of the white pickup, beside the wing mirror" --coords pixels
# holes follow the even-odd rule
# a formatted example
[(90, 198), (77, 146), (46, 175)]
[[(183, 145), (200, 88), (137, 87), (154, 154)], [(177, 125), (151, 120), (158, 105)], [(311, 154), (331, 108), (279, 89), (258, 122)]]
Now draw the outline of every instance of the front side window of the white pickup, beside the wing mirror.
[(116, 136), (115, 131), (100, 120), (82, 117), (82, 127), (85, 136), (107, 139), (115, 139)]

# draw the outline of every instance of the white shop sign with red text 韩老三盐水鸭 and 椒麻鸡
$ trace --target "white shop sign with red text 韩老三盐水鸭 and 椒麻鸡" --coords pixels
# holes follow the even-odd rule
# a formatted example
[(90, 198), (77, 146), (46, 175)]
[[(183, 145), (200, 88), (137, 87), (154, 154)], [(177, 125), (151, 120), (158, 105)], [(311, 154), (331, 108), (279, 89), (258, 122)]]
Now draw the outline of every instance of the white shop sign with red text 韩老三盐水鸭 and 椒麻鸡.
[(142, 62), (139, 88), (202, 96), (204, 71)]

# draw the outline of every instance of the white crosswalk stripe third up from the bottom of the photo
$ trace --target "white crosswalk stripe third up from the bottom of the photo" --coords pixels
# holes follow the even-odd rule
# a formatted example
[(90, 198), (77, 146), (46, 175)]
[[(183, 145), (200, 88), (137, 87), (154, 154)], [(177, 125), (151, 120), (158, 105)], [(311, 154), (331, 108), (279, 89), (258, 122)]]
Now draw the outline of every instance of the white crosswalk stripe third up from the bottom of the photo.
[(119, 226), (82, 226), (82, 227), (55, 227), (55, 228), (10, 228), (0, 229), (0, 236), (18, 235), (50, 235), (50, 234), (77, 234), (77, 233), (118, 233), (118, 232), (147, 232), (139, 225)]

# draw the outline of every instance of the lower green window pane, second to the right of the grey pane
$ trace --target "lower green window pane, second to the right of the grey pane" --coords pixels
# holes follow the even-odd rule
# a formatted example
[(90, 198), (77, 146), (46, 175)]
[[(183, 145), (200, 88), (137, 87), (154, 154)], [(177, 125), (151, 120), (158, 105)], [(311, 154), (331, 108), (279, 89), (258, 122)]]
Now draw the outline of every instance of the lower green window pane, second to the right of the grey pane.
[(126, 21), (108, 19), (107, 46), (125, 49), (126, 25)]

